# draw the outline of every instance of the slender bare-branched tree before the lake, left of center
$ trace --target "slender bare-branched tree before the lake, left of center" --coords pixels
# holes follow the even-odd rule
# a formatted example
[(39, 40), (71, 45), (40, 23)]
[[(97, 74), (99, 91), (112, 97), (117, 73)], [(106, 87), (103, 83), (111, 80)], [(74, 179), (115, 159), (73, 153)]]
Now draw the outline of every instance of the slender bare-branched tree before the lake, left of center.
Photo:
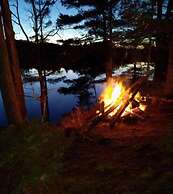
[(25, 0), (29, 3), (30, 13), (32, 18), (32, 25), (34, 35), (32, 39), (37, 44), (38, 48), (38, 74), (40, 81), (40, 107), (42, 113), (42, 120), (49, 120), (49, 108), (48, 108), (48, 93), (47, 93), (47, 82), (46, 82), (46, 72), (42, 68), (42, 64), (40, 62), (42, 50), (41, 45), (47, 41), (49, 36), (53, 36), (57, 33), (56, 29), (52, 29), (47, 32), (47, 28), (52, 25), (52, 21), (50, 19), (47, 20), (51, 7), (56, 3), (57, 0)]

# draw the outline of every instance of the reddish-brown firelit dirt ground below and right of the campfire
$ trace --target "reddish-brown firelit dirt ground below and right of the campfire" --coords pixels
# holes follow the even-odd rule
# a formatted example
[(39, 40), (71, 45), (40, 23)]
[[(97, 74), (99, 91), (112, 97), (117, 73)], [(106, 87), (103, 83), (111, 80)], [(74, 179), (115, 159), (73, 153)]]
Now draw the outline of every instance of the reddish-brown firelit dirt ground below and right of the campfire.
[(68, 193), (173, 193), (172, 100), (153, 99), (143, 116), (76, 139), (64, 160)]

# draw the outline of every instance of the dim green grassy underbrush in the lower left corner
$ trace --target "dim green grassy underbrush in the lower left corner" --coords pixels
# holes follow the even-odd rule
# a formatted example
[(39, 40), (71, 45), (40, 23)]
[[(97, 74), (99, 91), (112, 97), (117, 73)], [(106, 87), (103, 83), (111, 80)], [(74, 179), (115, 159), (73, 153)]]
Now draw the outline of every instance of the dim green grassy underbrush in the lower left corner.
[(45, 193), (62, 173), (63, 157), (72, 141), (54, 126), (38, 122), (2, 130), (0, 193)]

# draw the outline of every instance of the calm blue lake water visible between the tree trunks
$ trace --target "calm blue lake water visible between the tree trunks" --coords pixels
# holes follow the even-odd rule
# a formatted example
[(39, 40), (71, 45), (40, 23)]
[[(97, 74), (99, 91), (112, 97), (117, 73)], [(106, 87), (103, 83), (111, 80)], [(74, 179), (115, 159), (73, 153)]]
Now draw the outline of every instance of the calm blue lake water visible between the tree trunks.
[[(129, 72), (133, 68), (132, 64), (126, 67), (120, 67), (113, 71), (113, 75), (122, 75)], [(81, 75), (73, 70), (65, 70), (61, 68), (58, 71), (46, 72), (47, 92), (48, 92), (48, 108), (49, 119), (51, 122), (56, 123), (64, 114), (72, 111), (73, 108), (83, 106), (89, 108), (92, 104), (96, 103), (98, 96), (104, 88), (104, 82), (98, 82), (98, 80), (104, 80), (106, 78), (105, 73), (98, 74), (96, 77), (91, 78), (89, 75)], [(38, 79), (33, 79), (38, 76), (36, 69), (30, 69), (23, 72), (23, 87), (25, 93), (25, 102), (27, 108), (27, 115), (29, 119), (41, 119), (40, 108), (40, 82)], [(85, 83), (85, 78), (91, 78), (90, 84)], [(84, 85), (80, 83), (79, 88), (77, 80), (82, 77)], [(88, 83), (87, 82), (87, 83)], [(83, 82), (82, 82), (83, 83)], [(70, 90), (59, 91), (60, 88), (68, 88), (74, 86)], [(3, 101), (0, 96), (0, 126), (6, 126), (7, 119), (3, 107)]]

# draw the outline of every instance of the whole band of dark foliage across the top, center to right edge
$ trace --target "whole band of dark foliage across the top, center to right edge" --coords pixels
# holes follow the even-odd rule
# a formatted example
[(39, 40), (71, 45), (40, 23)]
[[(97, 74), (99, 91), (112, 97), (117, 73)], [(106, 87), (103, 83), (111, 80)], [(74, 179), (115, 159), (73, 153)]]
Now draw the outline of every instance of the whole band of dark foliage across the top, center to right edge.
[(171, 0), (61, 2), (67, 9), (76, 9), (77, 12), (73, 15), (61, 13), (57, 19), (60, 28), (69, 26), (77, 30), (86, 30), (87, 38), (112, 39), (119, 44), (149, 44), (149, 40), (156, 40), (163, 32), (168, 33), (168, 29), (163, 26), (168, 25), (167, 20), (172, 19)]

